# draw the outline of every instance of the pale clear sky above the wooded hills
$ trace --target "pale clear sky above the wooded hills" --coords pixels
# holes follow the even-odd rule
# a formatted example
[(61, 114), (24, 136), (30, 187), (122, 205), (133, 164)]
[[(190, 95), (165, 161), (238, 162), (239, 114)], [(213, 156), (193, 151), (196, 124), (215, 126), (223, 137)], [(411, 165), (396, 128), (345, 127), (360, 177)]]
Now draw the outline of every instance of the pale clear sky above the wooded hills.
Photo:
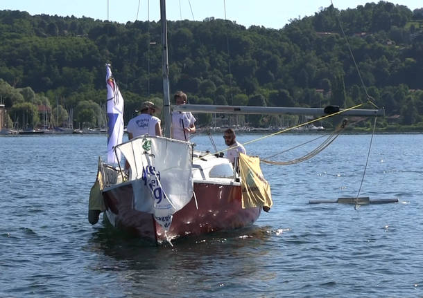
[[(374, 2), (378, 2), (374, 1)], [(166, 18), (202, 21), (207, 17), (229, 19), (245, 27), (283, 28), (290, 19), (314, 15), (334, 3), (339, 10), (356, 8), (363, 0), (167, 0)], [(411, 10), (422, 0), (391, 0)], [(107, 10), (108, 7), (108, 10)], [(0, 10), (21, 10), (30, 15), (91, 17), (126, 24), (127, 21), (159, 21), (159, 0), (0, 0)], [(225, 17), (226, 13), (226, 17)]]

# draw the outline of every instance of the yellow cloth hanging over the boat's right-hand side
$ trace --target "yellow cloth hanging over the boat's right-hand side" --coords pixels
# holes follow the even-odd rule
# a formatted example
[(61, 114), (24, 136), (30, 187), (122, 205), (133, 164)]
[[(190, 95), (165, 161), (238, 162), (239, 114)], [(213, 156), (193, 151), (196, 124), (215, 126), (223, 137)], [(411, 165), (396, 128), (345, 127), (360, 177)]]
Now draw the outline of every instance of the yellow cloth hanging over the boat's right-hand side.
[(260, 159), (239, 153), (241, 174), (242, 207), (272, 207), (270, 185), (264, 179), (260, 169)]

